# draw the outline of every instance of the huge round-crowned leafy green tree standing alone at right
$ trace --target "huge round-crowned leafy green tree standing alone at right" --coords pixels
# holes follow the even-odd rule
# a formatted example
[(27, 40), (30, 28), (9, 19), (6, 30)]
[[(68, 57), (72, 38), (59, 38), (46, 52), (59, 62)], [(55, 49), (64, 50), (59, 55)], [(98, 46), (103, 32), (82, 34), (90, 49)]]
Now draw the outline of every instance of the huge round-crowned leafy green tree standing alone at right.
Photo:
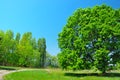
[(105, 73), (120, 56), (120, 9), (106, 5), (77, 9), (58, 38), (59, 62), (65, 69), (95, 66)]

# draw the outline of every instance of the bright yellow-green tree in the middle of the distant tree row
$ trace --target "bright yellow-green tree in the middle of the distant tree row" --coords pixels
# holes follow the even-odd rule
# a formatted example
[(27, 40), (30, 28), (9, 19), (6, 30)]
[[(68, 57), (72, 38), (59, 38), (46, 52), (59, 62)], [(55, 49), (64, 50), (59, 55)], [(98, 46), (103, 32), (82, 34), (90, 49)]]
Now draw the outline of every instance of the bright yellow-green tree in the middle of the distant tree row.
[(20, 55), (19, 59), (20, 66), (28, 67), (32, 65), (33, 60), (32, 58), (34, 55), (31, 40), (32, 40), (31, 32), (24, 33), (20, 40), (20, 44), (18, 45), (18, 52)]

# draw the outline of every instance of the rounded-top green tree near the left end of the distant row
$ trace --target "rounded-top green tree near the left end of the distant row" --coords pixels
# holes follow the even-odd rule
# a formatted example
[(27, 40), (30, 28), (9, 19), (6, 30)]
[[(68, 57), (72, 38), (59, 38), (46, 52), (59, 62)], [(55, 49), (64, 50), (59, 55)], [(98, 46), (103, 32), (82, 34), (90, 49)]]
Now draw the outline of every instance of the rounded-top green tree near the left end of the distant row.
[(3, 40), (3, 49), (4, 49), (4, 65), (12, 65), (11, 56), (14, 53), (14, 33), (11, 30), (7, 30)]

